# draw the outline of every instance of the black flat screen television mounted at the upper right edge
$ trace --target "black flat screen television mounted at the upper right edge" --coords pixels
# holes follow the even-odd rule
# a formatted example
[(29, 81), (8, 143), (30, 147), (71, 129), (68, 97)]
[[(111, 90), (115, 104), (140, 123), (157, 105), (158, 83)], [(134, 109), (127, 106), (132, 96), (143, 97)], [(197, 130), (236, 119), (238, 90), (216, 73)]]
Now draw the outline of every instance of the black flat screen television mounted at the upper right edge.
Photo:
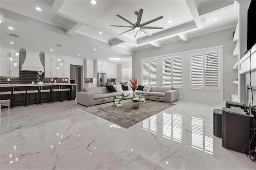
[(247, 12), (247, 51), (256, 43), (256, 0), (251, 0)]

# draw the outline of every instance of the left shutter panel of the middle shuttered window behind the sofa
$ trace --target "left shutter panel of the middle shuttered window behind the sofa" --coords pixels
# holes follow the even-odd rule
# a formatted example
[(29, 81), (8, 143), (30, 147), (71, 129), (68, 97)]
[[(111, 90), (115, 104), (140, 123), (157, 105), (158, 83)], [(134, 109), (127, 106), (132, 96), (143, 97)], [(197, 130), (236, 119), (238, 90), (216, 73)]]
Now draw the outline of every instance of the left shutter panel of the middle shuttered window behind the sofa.
[(164, 60), (163, 63), (163, 85), (172, 86), (172, 60)]

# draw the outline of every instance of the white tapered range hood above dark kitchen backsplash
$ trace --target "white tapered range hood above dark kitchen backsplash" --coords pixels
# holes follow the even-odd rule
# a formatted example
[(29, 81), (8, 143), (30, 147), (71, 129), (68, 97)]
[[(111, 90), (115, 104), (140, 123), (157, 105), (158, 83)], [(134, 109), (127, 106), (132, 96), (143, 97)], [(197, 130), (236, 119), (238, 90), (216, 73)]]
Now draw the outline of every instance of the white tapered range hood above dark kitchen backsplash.
[(26, 71), (44, 71), (44, 66), (42, 65), (39, 57), (39, 53), (32, 53), (26, 51), (26, 58), (21, 66), (21, 70)]

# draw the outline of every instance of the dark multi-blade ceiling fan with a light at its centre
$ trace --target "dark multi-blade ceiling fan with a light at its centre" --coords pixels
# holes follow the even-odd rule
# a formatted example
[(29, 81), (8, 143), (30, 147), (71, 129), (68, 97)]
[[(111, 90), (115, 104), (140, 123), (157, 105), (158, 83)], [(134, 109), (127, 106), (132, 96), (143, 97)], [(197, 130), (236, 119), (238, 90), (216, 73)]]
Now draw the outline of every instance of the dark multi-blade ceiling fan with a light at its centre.
[(144, 32), (145, 34), (147, 34), (148, 36), (152, 36), (152, 34), (150, 34), (149, 32), (147, 32), (146, 30), (144, 29), (163, 29), (164, 27), (153, 27), (153, 26), (146, 26), (152, 22), (155, 22), (157, 20), (160, 20), (162, 18), (164, 18), (163, 16), (159, 16), (157, 18), (154, 18), (152, 20), (149, 20), (147, 22), (144, 22), (142, 24), (140, 24), (140, 21), (141, 21), (141, 17), (142, 17), (142, 13), (143, 13), (143, 9), (140, 9), (139, 12), (135, 12), (135, 15), (137, 16), (137, 21), (135, 22), (135, 24), (133, 24), (132, 22), (130, 22), (129, 20), (126, 20), (124, 17), (120, 16), (120, 15), (116, 15), (118, 16), (119, 18), (121, 18), (122, 20), (125, 20), (126, 22), (128, 22), (129, 24), (131, 24), (132, 26), (116, 26), (116, 25), (110, 25), (112, 27), (127, 27), (127, 28), (131, 28), (130, 30), (127, 30), (125, 32), (122, 32), (120, 33), (119, 35), (121, 34), (124, 34), (126, 32), (129, 32), (129, 31), (132, 31), (134, 30), (134, 38), (136, 37), (137, 35), (137, 32), (138, 30), (141, 30), (142, 32)]

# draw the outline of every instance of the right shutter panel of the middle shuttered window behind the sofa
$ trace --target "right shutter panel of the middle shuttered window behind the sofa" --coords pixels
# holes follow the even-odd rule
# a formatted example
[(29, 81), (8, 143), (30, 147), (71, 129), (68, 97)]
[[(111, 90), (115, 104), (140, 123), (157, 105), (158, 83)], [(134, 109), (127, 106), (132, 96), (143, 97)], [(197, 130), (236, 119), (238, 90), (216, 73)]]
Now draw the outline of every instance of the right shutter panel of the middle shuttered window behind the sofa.
[(182, 58), (172, 59), (172, 85), (182, 86)]

